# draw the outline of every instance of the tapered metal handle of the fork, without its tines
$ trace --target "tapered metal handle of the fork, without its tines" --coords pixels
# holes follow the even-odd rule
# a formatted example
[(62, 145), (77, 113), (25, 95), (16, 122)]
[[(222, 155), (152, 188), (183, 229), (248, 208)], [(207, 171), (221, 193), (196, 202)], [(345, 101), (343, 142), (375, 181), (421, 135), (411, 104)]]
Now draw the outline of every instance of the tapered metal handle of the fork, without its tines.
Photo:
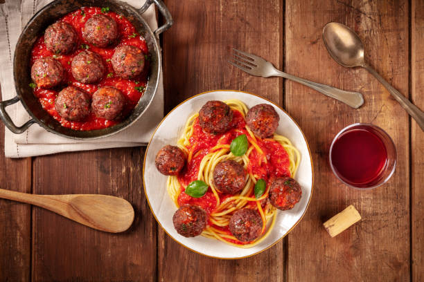
[(362, 104), (364, 104), (364, 97), (362, 97), (361, 93), (344, 91), (326, 84), (311, 82), (310, 80), (295, 77), (294, 75), (289, 75), (288, 73), (283, 73), (282, 71), (279, 71), (276, 68), (274, 68), (274, 70), (276, 71), (276, 73), (273, 73), (272, 75), (278, 75), (293, 80), (294, 82), (308, 86), (320, 93), (323, 93), (324, 95), (327, 95), (328, 97), (332, 97), (335, 100), (339, 100), (340, 102), (343, 102), (344, 104), (351, 106), (354, 109), (357, 109), (362, 106)]

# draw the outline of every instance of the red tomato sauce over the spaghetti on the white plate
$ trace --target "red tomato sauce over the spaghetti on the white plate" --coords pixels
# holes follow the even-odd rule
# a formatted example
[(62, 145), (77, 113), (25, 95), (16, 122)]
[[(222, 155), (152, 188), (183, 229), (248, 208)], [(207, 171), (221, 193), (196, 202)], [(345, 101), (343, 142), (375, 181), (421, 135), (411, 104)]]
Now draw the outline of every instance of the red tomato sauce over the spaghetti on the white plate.
[[(204, 156), (210, 153), (211, 149), (217, 144), (231, 144), (231, 141), (233, 141), (234, 138), (242, 134), (247, 136), (249, 145), (251, 142), (253, 142), (249, 133), (247, 133), (245, 126), (246, 122), (242, 114), (239, 111), (234, 110), (231, 129), (222, 134), (214, 135), (212, 133), (206, 133), (200, 127), (198, 118), (194, 120), (193, 135), (191, 135), (190, 145), (188, 145), (188, 149), (193, 152), (193, 158), (186, 164), (184, 169), (178, 175), (178, 180), (181, 185), (181, 193), (177, 199), (178, 205), (196, 205), (198, 207), (202, 207), (202, 209), (204, 209), (208, 215), (214, 212), (217, 202), (211, 187), (209, 187), (208, 191), (206, 191), (206, 194), (201, 198), (193, 198), (188, 196), (186, 193), (184, 193), (184, 190), (188, 184), (194, 180), (197, 180), (197, 175), (200, 169), (200, 162), (202, 162)], [(254, 149), (249, 155), (249, 164), (247, 166), (247, 171), (249, 173), (253, 174), (256, 178), (264, 179), (267, 183), (272, 178), (291, 175), (289, 170), (290, 160), (288, 153), (279, 142), (273, 139), (256, 138), (256, 143), (263, 151), (267, 162), (265, 163), (264, 161), (264, 155), (260, 154), (258, 151), (256, 151), (256, 149)], [(218, 193), (218, 196), (222, 203), (222, 201), (231, 197), (232, 195)], [(254, 197), (254, 195), (247, 196)], [(263, 203), (260, 204), (265, 207), (265, 203), (266, 201), (264, 200)], [(246, 207), (255, 209), (256, 202), (251, 201), (247, 203)], [(211, 223), (211, 221), (209, 221), (208, 224), (209, 226), (213, 226), (215, 229), (219, 229), (225, 234), (232, 235), (228, 226), (219, 227)], [(225, 238), (225, 240), (239, 245), (251, 243), (235, 241), (229, 238)]]

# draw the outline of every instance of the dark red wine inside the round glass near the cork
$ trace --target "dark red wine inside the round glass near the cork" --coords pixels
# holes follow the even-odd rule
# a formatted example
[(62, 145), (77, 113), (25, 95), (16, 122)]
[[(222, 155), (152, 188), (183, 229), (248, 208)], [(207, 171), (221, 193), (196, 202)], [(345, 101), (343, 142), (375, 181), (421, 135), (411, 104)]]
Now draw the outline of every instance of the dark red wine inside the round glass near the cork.
[(356, 187), (366, 187), (385, 169), (387, 150), (376, 133), (364, 127), (353, 127), (335, 140), (331, 162), (335, 173), (344, 182)]

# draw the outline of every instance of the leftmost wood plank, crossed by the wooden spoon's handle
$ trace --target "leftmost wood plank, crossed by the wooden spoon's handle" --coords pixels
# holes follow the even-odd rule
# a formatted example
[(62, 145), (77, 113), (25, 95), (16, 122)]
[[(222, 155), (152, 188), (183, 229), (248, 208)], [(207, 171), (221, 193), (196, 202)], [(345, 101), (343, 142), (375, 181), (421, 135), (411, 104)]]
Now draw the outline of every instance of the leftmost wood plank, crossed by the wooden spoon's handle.
[[(0, 91), (1, 94), (1, 91)], [(4, 156), (4, 125), (0, 125), (0, 187), (31, 192), (31, 158)], [(0, 200), (0, 281), (30, 279), (30, 205)]]

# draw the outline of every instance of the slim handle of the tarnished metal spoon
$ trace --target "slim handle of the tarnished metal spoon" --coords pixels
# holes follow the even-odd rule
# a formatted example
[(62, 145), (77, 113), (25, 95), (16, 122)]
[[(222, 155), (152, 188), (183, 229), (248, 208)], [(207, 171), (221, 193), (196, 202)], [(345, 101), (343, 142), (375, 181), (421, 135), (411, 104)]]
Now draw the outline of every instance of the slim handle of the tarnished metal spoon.
[(407, 98), (400, 94), (399, 91), (397, 91), (393, 86), (389, 84), (384, 78), (382, 78), (381, 75), (379, 75), (376, 70), (371, 68), (371, 66), (364, 64), (363, 67), (366, 69), (366, 71), (369, 71), (371, 75), (375, 76), (376, 79), (378, 79), (379, 82), (382, 83), (382, 85), (387, 88), (387, 90), (390, 92), (390, 94), (396, 99), (396, 101), (399, 102), (400, 106), (403, 106), (403, 109), (409, 113), (409, 115), (414, 118), (416, 123), (421, 127), (421, 130), (424, 131), (424, 113), (420, 109), (418, 109), (417, 106), (409, 102)]

